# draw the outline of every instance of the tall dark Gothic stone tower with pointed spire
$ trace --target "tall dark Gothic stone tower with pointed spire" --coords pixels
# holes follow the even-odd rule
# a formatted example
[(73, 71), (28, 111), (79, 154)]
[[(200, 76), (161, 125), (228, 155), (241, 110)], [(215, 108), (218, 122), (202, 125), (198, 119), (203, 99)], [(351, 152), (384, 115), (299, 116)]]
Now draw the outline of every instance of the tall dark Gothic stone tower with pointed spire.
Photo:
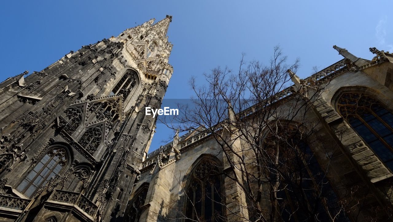
[(173, 73), (154, 19), (0, 83), (1, 221), (122, 221)]

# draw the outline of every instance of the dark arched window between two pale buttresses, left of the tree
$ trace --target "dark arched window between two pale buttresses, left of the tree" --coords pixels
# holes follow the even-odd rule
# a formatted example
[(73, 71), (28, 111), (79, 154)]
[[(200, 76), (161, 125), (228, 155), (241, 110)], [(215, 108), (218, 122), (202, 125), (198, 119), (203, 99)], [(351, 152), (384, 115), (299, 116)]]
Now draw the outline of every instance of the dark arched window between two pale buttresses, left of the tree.
[(202, 160), (187, 182), (186, 221), (223, 221), (221, 179), (217, 164)]

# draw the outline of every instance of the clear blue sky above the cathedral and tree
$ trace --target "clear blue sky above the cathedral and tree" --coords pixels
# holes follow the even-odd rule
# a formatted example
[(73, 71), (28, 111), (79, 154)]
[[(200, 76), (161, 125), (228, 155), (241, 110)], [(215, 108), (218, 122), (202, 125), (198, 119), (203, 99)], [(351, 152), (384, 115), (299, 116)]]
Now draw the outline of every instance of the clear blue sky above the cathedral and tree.
[[(342, 59), (333, 45), (371, 59), (370, 47), (393, 51), (393, 1), (3, 1), (0, 81), (40, 71), (81, 46), (172, 15), (169, 63), (174, 73), (164, 99), (192, 96), (187, 81), (217, 66), (236, 70), (246, 60), (268, 63), (279, 45), (288, 62), (300, 58), (300, 78)], [(389, 28), (390, 27), (390, 28)], [(157, 124), (150, 152), (174, 133)]]

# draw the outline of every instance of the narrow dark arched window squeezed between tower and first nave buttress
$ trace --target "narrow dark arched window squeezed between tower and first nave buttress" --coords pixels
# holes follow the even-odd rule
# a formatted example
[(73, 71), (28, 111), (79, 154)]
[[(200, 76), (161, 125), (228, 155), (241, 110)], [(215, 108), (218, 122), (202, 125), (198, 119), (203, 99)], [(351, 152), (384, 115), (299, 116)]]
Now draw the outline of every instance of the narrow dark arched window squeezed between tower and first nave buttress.
[(140, 187), (138, 191), (135, 192), (134, 197), (132, 198), (132, 200), (129, 202), (127, 206), (128, 218), (125, 219), (125, 221), (139, 222), (139, 219), (143, 213), (143, 209), (141, 207), (145, 205), (145, 200), (148, 190), (149, 190), (149, 185), (144, 185), (143, 187)]

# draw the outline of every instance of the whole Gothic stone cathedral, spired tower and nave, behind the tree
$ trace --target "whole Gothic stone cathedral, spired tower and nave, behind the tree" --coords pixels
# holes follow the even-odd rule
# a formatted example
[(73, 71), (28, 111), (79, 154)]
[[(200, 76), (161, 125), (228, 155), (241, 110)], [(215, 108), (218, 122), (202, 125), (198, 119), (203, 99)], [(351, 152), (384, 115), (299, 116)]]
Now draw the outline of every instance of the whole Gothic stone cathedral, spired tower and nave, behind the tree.
[[(208, 132), (176, 134), (149, 153), (156, 117), (144, 111), (160, 108), (173, 74), (171, 20), (151, 19), (0, 83), (1, 221), (256, 221), (242, 186), (219, 174), (231, 169)], [(297, 89), (330, 79), (307, 113), (319, 122), (310, 150), (319, 165), (329, 162), (335, 198), (356, 187), (350, 202), (363, 203), (325, 221), (390, 221), (393, 54), (370, 48), (367, 60), (333, 48), (342, 60), (305, 80), (291, 74)]]

